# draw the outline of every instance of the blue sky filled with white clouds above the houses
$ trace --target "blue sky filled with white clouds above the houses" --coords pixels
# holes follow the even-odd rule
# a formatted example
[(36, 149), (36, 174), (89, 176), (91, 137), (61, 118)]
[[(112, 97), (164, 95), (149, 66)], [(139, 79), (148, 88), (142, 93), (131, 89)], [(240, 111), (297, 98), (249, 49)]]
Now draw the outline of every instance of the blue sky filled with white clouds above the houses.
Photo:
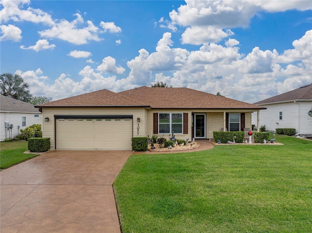
[(311, 0), (0, 0), (0, 30), (1, 74), (53, 100), (162, 81), (255, 103), (312, 83)]

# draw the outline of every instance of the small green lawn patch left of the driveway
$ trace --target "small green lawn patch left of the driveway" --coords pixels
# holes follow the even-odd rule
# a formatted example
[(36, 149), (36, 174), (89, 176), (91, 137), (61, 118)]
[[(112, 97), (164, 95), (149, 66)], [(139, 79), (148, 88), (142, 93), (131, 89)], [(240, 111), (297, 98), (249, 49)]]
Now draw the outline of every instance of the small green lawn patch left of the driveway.
[(27, 142), (0, 143), (0, 169), (6, 169), (38, 155), (24, 154), (28, 150)]

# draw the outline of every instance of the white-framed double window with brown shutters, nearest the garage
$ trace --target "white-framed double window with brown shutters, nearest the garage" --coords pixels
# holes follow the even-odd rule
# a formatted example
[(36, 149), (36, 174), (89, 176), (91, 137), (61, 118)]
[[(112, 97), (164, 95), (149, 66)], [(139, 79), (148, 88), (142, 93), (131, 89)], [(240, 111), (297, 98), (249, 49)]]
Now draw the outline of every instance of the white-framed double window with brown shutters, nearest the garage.
[(182, 113), (159, 113), (158, 115), (158, 132), (183, 133), (183, 114)]

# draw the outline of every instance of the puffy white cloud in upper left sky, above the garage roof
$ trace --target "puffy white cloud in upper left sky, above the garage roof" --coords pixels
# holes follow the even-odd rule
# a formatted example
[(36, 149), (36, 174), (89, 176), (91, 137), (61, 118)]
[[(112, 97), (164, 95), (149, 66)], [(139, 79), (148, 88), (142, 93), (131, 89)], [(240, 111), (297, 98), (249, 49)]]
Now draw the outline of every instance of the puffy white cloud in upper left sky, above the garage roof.
[[(75, 14), (75, 16), (77, 18), (71, 22), (62, 19), (52, 28), (39, 32), (40, 36), (59, 38), (77, 45), (86, 44), (90, 40), (101, 40), (98, 37), (98, 27), (96, 27), (92, 21), (88, 20), (86, 26), (83, 18), (78, 13)], [(82, 28), (78, 28), (80, 25), (82, 25)]]

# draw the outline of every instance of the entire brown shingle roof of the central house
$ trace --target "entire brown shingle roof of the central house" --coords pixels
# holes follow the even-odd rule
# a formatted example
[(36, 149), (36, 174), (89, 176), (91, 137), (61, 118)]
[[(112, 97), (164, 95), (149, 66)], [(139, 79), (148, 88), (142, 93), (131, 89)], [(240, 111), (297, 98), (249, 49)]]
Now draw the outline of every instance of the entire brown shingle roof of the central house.
[(145, 86), (118, 93), (110, 90), (98, 90), (38, 107), (263, 108), (189, 88), (150, 88)]

